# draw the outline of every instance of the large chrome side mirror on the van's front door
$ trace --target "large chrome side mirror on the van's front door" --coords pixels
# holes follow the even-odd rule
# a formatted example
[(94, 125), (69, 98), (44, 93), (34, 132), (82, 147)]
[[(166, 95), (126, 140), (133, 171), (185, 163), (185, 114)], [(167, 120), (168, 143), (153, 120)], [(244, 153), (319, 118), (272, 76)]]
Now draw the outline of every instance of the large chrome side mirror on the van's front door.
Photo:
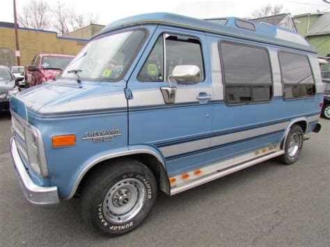
[(176, 65), (172, 77), (178, 84), (196, 84), (201, 81), (201, 70), (196, 65)]

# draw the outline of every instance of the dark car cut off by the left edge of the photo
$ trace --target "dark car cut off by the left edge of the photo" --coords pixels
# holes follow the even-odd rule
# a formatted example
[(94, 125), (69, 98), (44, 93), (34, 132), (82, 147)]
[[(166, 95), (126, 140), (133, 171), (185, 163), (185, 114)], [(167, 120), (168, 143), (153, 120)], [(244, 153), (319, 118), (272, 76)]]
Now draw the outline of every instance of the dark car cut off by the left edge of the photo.
[(22, 77), (15, 79), (7, 66), (0, 65), (0, 111), (9, 109), (10, 93), (18, 93), (16, 83), (22, 79)]

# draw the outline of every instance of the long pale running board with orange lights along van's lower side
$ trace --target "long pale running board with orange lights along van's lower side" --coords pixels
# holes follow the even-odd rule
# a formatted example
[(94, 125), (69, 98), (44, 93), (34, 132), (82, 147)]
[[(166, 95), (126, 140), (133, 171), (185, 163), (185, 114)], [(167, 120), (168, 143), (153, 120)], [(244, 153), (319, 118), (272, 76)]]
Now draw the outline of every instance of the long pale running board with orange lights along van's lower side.
[(214, 173), (211, 173), (210, 175), (206, 175), (204, 177), (197, 177), (196, 180), (191, 180), (187, 184), (182, 184), (182, 186), (178, 186), (174, 189), (171, 189), (171, 196), (180, 193), (182, 191), (187, 191), (188, 189), (194, 188), (196, 186), (199, 186), (201, 184), (205, 184), (207, 182), (210, 182), (212, 180), (216, 180), (219, 177), (224, 177), (226, 175), (229, 175), (231, 173), (235, 173), (238, 170), (242, 170), (244, 168), (248, 168), (249, 166), (256, 165), (260, 162), (267, 161), (268, 159), (272, 159), (274, 157), (277, 157), (281, 154), (284, 154), (283, 150), (279, 150), (277, 152), (273, 152), (271, 154), (267, 154), (265, 156), (259, 157), (257, 159), (253, 159), (251, 161), (247, 161), (244, 164), (240, 164), (239, 166), (230, 166), (226, 170), (216, 170)]

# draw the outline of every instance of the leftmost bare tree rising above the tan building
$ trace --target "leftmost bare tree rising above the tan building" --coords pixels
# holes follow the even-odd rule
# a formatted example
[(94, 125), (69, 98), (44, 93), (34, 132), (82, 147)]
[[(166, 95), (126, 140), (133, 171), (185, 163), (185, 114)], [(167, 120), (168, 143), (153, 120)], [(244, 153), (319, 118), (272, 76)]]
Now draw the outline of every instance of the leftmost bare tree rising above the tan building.
[(50, 26), (50, 8), (46, 1), (31, 0), (17, 16), (20, 26), (32, 29), (47, 29)]

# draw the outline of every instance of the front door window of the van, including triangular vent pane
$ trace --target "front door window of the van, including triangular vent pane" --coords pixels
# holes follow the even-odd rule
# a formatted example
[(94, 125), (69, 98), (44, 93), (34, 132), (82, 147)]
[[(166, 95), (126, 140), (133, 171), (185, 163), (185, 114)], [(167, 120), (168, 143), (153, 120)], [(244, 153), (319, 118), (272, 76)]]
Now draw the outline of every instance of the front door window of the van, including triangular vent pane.
[[(204, 80), (203, 56), (201, 43), (194, 38), (164, 34), (166, 65), (164, 66), (164, 36), (157, 42), (144, 63), (137, 79), (139, 81), (167, 81), (176, 65), (196, 65), (201, 70), (201, 81)], [(164, 76), (164, 68), (165, 76)]]

